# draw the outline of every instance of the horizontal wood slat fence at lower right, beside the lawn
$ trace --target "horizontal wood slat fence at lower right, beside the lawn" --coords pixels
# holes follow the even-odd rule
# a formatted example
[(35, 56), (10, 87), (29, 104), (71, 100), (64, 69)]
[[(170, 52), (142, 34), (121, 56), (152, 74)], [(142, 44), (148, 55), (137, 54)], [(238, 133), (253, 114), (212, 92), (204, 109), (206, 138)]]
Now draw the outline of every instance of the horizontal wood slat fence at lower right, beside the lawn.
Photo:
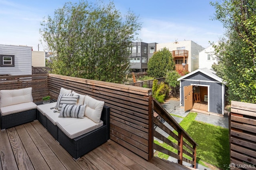
[(256, 104), (231, 101), (230, 162), (238, 169), (256, 168)]

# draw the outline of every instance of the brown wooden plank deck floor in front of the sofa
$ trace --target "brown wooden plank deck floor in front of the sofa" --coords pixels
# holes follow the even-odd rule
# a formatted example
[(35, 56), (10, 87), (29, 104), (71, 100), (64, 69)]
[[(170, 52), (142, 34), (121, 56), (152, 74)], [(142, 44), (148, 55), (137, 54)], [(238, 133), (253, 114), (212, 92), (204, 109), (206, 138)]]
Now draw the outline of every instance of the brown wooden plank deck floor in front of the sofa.
[(0, 170), (190, 169), (156, 157), (148, 162), (112, 140), (74, 161), (38, 121), (1, 131), (0, 158)]

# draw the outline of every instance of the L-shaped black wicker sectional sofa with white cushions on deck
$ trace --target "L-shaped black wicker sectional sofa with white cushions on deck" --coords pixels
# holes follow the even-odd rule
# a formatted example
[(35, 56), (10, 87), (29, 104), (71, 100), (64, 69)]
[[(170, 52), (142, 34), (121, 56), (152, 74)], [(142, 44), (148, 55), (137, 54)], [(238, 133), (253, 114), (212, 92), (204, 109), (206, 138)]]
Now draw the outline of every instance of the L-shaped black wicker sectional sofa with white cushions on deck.
[[(86, 111), (87, 113), (88, 111), (94, 112), (94, 109), (96, 110), (95, 113), (100, 111), (100, 117), (96, 118), (97, 120), (95, 122), (94, 117), (91, 117), (90, 114), (87, 116), (91, 119), (86, 117), (86, 114), (84, 114), (83, 119), (69, 117), (69, 115), (67, 115), (67, 117), (59, 117), (60, 113), (55, 109), (58, 101), (55, 103), (37, 106), (32, 102), (32, 88), (19, 90), (20, 91), (11, 90), (11, 94), (20, 94), (21, 96), (23, 93), (29, 100), (24, 100), (24, 98), (22, 100), (18, 98), (17, 100), (10, 99), (9, 102), (13, 101), (13, 105), (8, 106), (6, 106), (5, 102), (2, 101), (6, 99), (6, 96), (4, 96), (5, 92), (9, 92), (0, 91), (1, 129), (14, 127), (37, 119), (60, 143), (60, 145), (67, 150), (74, 160), (78, 160), (80, 156), (83, 156), (110, 139), (110, 108), (106, 105), (102, 105), (102, 101), (97, 101), (96, 99), (89, 96), (86, 97), (85, 95), (80, 95), (82, 98), (77, 101), (76, 105), (81, 105), (83, 103), (83, 105), (86, 106), (87, 104), (87, 109), (85, 109), (84, 113), (86, 113)], [(70, 93), (70, 90), (62, 88), (60, 90), (60, 94), (62, 93)], [(78, 95), (78, 93), (72, 93)], [(30, 95), (31, 98), (29, 97)], [(16, 95), (11, 96), (13, 97)], [(84, 98), (87, 98), (87, 103)], [(26, 101), (24, 102), (26, 104), (17, 103), (15, 101)], [(100, 110), (94, 108), (94, 101), (96, 103), (101, 103), (102, 108)], [(15, 109), (16, 107), (22, 108), (20, 106), (29, 107), (27, 107), (27, 109)]]

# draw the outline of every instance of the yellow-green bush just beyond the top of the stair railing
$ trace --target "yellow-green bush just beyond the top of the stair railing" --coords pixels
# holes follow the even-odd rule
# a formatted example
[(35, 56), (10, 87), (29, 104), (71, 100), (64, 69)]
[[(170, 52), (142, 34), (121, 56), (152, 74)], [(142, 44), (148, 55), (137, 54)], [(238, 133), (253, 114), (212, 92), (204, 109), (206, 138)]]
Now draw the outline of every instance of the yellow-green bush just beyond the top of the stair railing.
[(169, 87), (168, 85), (164, 84), (164, 82), (161, 82), (160, 84), (158, 84), (158, 80), (154, 80), (153, 87), (152, 87), (152, 94), (153, 94), (153, 97), (159, 103), (163, 103), (164, 99), (169, 94)]

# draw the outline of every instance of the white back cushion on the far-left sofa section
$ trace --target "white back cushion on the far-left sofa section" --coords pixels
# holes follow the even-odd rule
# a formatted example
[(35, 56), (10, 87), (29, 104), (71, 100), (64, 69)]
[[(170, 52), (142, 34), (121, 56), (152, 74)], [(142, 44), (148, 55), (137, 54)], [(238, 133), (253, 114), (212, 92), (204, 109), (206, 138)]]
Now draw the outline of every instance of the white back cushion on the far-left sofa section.
[(0, 90), (0, 107), (33, 102), (32, 87), (15, 90)]

